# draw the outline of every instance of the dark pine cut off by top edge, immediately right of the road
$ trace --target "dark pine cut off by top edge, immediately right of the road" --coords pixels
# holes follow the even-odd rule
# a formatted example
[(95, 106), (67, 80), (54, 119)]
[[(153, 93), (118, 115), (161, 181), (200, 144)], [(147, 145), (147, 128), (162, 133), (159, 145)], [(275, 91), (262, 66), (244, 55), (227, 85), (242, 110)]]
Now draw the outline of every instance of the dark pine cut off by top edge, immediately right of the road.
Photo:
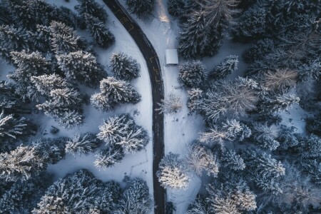
[(138, 16), (138, 18), (151, 14), (154, 3), (154, 0), (126, 0), (128, 10), (131, 11), (132, 14)]

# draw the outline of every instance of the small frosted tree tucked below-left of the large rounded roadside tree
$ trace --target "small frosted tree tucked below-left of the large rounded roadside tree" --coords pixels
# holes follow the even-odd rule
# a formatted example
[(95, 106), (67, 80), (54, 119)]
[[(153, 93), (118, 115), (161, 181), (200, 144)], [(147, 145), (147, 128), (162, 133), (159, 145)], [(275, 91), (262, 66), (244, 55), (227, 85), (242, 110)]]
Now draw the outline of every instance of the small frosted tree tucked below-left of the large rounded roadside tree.
[(115, 163), (121, 162), (125, 154), (121, 146), (107, 146), (106, 149), (96, 154), (96, 159), (93, 161), (94, 165), (99, 169), (105, 169)]

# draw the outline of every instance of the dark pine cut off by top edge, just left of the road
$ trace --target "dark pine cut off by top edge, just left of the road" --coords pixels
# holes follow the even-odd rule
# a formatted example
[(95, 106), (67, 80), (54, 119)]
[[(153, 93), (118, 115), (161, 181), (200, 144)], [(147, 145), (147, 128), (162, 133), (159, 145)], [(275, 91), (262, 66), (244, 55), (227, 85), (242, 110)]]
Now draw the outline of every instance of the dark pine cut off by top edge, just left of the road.
[(107, 13), (100, 4), (97, 4), (94, 0), (77, 0), (78, 5), (75, 6), (76, 11), (82, 16), (89, 14), (97, 17), (100, 21), (105, 23), (107, 19)]

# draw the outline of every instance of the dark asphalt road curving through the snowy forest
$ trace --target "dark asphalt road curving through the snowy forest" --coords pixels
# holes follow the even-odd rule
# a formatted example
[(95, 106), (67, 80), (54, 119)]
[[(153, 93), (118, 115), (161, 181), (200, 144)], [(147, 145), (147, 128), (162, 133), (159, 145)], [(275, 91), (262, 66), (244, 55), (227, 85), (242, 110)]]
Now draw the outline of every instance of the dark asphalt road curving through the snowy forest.
[[(155, 214), (165, 213), (165, 190), (161, 187), (156, 177), (158, 164), (164, 155), (164, 116), (163, 113), (156, 111), (157, 103), (164, 98), (163, 80), (161, 77), (161, 66), (155, 49), (148, 41), (145, 34), (128, 14), (126, 9), (119, 4), (117, 0), (103, 0), (105, 4), (113, 11), (121, 24), (133, 37), (138, 48), (146, 60), (149, 76), (151, 78), (151, 89), (153, 96), (153, 188), (155, 200)], [(116, 38), (117, 39), (117, 38)], [(165, 54), (165, 53), (164, 53)]]

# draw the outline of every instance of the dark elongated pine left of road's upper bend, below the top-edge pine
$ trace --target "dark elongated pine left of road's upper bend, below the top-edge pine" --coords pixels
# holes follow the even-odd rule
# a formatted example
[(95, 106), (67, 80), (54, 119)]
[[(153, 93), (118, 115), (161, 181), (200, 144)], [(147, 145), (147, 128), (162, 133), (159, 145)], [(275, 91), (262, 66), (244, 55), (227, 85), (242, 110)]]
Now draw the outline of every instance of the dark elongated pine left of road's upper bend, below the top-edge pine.
[(101, 48), (108, 48), (115, 41), (115, 36), (111, 34), (103, 21), (100, 21), (95, 16), (85, 14), (85, 21), (88, 31), (91, 33), (93, 40)]

